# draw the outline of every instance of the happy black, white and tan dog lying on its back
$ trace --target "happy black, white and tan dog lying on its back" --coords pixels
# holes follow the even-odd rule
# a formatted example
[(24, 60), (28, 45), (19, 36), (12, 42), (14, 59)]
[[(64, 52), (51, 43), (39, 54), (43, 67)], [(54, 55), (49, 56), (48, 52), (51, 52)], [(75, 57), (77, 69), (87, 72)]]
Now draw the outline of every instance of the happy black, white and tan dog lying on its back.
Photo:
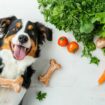
[(22, 100), (35, 71), (31, 66), (46, 39), (52, 41), (52, 30), (39, 22), (22, 22), (15, 16), (0, 19), (0, 76), (23, 78), (19, 93), (0, 87), (0, 105), (17, 105)]

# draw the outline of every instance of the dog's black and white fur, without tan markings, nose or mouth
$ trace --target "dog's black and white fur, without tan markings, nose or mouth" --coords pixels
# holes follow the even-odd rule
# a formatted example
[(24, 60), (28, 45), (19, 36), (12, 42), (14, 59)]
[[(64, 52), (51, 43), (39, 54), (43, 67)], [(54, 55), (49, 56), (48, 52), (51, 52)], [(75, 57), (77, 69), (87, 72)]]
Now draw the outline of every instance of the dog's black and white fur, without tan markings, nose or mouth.
[[(8, 22), (8, 24), (6, 23), (6, 21)], [(0, 50), (0, 76), (8, 79), (15, 79), (18, 76), (22, 76), (24, 79), (20, 93), (15, 93), (10, 89), (0, 87), (0, 105), (17, 105), (16, 102), (20, 102), (22, 100), (22, 97), (26, 93), (31, 83), (31, 77), (34, 73), (31, 65), (39, 57), (39, 45), (43, 44), (45, 39), (49, 41), (52, 40), (52, 30), (44, 26), (43, 24), (39, 22), (33, 23), (31, 21), (28, 21), (23, 22), (20, 29), (16, 29), (15, 24), (17, 21), (22, 22), (21, 19), (17, 19), (15, 16), (0, 19), (0, 46), (3, 45), (4, 37), (16, 34), (15, 37), (12, 39), (13, 44), (20, 44), (18, 40), (19, 36), (24, 35), (28, 38), (28, 41), (26, 43), (23, 43), (22, 46), (30, 48), (32, 39), (35, 43), (37, 43), (38, 48), (35, 52), (34, 57), (26, 56), (23, 60), (15, 59), (11, 50)], [(33, 30), (31, 31), (26, 29), (27, 25), (29, 24), (33, 26)], [(13, 28), (15, 28), (15, 31), (12, 30)]]

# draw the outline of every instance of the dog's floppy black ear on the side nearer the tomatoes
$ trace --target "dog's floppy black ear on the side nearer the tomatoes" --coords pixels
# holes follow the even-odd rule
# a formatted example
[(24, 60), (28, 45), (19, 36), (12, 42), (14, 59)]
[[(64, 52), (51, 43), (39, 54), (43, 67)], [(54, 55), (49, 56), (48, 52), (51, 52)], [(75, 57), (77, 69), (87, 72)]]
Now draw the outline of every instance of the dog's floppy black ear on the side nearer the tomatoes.
[(34, 23), (35, 32), (37, 32), (38, 43), (43, 44), (45, 39), (52, 41), (52, 30), (43, 24), (36, 22)]

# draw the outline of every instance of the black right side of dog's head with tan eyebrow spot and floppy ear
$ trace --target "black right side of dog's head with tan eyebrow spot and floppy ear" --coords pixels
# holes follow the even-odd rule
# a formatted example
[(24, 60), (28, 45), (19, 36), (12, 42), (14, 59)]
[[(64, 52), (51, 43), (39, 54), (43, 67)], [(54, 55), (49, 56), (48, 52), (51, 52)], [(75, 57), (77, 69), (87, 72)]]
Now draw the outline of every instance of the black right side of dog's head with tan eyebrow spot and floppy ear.
[(28, 21), (25, 32), (28, 33), (33, 40), (37, 40), (38, 44), (43, 44), (45, 39), (52, 41), (52, 30), (39, 22), (33, 23)]

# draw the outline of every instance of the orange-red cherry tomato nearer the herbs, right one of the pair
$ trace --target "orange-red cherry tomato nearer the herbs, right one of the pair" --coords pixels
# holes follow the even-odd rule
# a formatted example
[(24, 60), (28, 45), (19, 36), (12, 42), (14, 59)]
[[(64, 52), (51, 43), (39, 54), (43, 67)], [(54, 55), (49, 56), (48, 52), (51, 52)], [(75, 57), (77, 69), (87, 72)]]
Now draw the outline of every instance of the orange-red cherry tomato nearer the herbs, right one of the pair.
[(79, 49), (79, 45), (78, 45), (78, 43), (75, 42), (75, 41), (72, 41), (72, 42), (70, 42), (70, 43), (67, 45), (67, 50), (68, 50), (70, 53), (75, 53), (78, 49)]

